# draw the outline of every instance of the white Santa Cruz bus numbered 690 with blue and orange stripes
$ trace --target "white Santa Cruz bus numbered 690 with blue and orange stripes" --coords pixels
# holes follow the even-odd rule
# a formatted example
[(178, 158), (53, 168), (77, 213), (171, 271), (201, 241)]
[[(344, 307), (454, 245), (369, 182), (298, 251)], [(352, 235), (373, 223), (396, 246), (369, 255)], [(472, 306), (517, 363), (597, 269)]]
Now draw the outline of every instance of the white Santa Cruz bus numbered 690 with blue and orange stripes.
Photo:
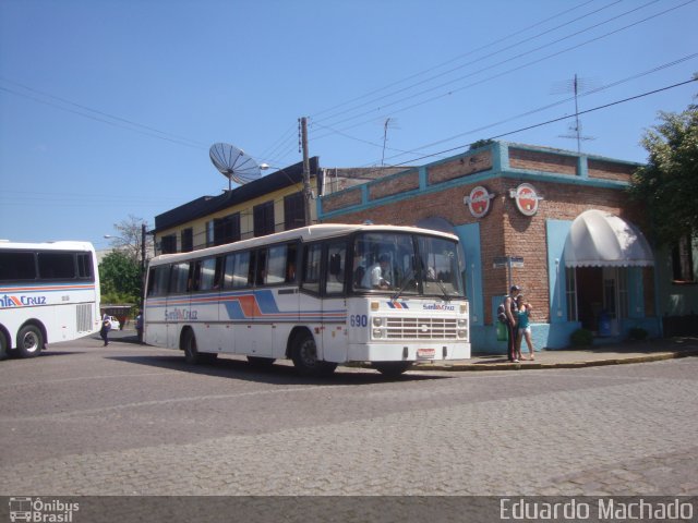
[(410, 227), (318, 224), (153, 258), (145, 341), (190, 363), (220, 353), (304, 375), (470, 357), (458, 239)]

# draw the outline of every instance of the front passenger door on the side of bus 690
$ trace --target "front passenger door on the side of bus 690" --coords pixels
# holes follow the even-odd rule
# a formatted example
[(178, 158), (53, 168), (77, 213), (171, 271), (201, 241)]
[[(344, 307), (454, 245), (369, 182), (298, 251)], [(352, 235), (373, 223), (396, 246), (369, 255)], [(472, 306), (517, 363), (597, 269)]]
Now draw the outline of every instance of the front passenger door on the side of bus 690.
[(327, 243), (322, 300), (322, 352), (329, 362), (347, 360), (347, 242)]

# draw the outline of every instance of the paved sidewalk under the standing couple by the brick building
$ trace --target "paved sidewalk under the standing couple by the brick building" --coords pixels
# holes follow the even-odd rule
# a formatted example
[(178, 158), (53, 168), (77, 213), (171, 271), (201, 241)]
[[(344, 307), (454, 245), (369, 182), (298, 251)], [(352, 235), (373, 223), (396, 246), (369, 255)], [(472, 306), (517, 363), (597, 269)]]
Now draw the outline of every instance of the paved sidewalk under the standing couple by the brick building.
[[(525, 351), (524, 357), (528, 357), (528, 350)], [(658, 362), (686, 356), (698, 356), (698, 337), (628, 341), (585, 350), (543, 350), (535, 352), (534, 361), (519, 363), (509, 363), (504, 354), (474, 354), (470, 360), (425, 362), (417, 364), (417, 367), (434, 370), (526, 370)]]

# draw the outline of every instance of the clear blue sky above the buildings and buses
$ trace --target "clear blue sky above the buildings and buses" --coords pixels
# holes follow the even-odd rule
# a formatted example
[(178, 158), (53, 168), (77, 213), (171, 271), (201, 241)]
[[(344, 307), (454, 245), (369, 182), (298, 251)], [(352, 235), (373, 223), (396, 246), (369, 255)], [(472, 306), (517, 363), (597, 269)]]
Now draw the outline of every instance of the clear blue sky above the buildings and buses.
[(696, 0), (0, 0), (0, 239), (108, 248), (226, 190), (215, 143), (301, 161), (301, 117), (325, 168), (576, 151), (576, 113), (582, 153), (643, 162), (696, 102), (697, 22)]

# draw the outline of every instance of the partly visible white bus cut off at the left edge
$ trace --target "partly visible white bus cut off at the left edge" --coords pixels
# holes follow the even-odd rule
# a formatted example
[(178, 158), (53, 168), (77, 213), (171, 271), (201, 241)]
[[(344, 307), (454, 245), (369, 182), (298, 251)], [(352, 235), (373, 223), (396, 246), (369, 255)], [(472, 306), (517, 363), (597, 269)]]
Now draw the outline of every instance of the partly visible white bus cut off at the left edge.
[(87, 242), (0, 241), (0, 356), (99, 330), (97, 257)]

